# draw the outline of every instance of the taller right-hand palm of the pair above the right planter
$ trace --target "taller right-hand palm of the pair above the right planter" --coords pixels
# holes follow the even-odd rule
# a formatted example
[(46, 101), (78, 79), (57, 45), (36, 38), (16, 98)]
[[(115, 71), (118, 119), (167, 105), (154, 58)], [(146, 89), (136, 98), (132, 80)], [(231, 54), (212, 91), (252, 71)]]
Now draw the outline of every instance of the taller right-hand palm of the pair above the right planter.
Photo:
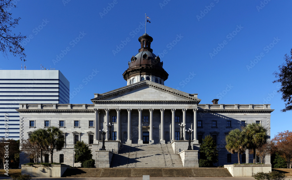
[(247, 148), (253, 149), (253, 163), (256, 163), (256, 148), (267, 143), (267, 130), (258, 123), (247, 124), (243, 128), (247, 139)]

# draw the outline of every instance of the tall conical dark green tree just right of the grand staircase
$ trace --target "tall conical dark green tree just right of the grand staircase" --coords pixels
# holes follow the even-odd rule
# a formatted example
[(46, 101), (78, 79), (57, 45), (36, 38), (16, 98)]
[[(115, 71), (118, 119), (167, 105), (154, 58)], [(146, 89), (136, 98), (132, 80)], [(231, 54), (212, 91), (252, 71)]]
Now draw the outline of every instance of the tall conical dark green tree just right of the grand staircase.
[[(205, 136), (203, 142), (200, 146), (200, 160), (207, 160), (208, 165), (211, 166), (213, 163), (217, 162), (218, 150), (215, 141), (211, 135)], [(206, 164), (206, 162), (204, 162)]]

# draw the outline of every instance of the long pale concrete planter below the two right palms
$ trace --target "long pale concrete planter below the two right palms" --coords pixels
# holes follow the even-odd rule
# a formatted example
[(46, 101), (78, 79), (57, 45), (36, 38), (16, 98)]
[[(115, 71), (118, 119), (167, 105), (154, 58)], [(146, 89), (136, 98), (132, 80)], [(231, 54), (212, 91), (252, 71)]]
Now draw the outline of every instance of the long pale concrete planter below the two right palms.
[(233, 177), (252, 176), (258, 172), (272, 171), (271, 164), (231, 164), (224, 165)]

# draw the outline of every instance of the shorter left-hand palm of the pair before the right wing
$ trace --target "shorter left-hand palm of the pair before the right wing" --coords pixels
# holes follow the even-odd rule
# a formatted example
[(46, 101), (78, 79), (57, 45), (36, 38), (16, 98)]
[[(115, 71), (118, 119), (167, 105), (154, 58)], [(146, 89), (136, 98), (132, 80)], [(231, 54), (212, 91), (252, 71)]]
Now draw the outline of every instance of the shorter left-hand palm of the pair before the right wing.
[(232, 154), (237, 153), (238, 164), (240, 164), (239, 154), (244, 153), (247, 145), (247, 139), (244, 137), (244, 133), (239, 129), (231, 130), (225, 137), (225, 141), (225, 148)]

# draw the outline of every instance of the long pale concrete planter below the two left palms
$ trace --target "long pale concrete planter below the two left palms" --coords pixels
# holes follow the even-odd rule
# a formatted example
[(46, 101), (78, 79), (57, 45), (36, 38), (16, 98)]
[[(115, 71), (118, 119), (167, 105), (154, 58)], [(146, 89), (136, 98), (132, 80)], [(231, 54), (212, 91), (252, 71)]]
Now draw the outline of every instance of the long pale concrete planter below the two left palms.
[(32, 177), (62, 177), (69, 165), (21, 165), (21, 174), (29, 174)]

